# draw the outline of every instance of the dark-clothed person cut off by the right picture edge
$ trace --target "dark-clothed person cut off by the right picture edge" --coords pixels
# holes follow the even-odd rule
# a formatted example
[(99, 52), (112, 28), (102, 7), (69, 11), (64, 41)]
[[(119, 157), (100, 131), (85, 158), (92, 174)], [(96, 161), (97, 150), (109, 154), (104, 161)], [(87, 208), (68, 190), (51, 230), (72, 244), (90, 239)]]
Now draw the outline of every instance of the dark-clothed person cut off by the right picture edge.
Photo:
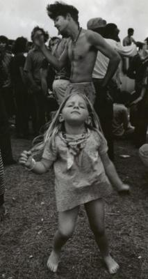
[(148, 38), (142, 43), (138, 54), (131, 60), (131, 65), (127, 72), (130, 78), (135, 79), (134, 100), (131, 103), (131, 110), (134, 114), (134, 144), (136, 147), (142, 146), (147, 140), (148, 125)]

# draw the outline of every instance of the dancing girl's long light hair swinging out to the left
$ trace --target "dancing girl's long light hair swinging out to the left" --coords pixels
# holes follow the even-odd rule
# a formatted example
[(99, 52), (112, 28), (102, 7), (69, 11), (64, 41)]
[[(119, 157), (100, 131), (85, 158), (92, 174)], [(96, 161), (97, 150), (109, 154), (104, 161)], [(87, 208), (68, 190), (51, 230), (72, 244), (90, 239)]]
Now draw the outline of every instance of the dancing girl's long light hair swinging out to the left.
[(31, 152), (33, 155), (37, 155), (38, 153), (40, 153), (41, 151), (44, 150), (44, 146), (46, 144), (47, 141), (49, 141), (49, 146), (52, 149), (53, 144), (55, 143), (55, 137), (56, 135), (64, 130), (64, 125), (63, 123), (60, 122), (59, 120), (59, 116), (63, 111), (63, 108), (65, 107), (65, 104), (67, 103), (67, 100), (69, 100), (69, 98), (71, 98), (72, 96), (75, 95), (79, 95), (81, 96), (81, 98), (83, 98), (83, 100), (85, 100), (85, 103), (88, 107), (88, 112), (89, 112), (89, 116), (91, 118), (90, 123), (86, 123), (85, 126), (87, 128), (89, 128), (90, 130), (100, 130), (101, 133), (101, 125), (99, 122), (99, 118), (96, 114), (96, 112), (94, 111), (94, 107), (92, 106), (92, 104), (90, 103), (90, 100), (88, 99), (87, 96), (83, 95), (83, 94), (78, 94), (78, 93), (72, 93), (71, 95), (67, 96), (65, 98), (65, 100), (63, 100), (63, 103), (61, 103), (60, 107), (58, 108), (58, 111), (56, 112), (54, 119), (52, 119), (51, 122), (47, 123), (45, 125), (45, 130), (46, 132), (44, 133), (44, 135), (40, 135), (38, 137), (35, 137), (35, 139), (33, 140), (33, 147), (31, 149)]

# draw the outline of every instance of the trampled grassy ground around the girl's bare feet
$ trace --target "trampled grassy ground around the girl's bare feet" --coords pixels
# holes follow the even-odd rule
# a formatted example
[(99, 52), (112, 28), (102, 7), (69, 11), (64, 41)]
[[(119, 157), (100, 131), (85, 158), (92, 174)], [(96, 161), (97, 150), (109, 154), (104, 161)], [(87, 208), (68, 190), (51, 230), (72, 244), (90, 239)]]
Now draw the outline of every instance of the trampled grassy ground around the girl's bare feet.
[[(30, 140), (13, 138), (13, 153), (31, 147)], [(128, 154), (129, 158), (120, 155)], [(120, 264), (116, 279), (146, 279), (148, 274), (148, 176), (130, 142), (115, 142), (115, 166), (129, 196), (114, 192), (106, 200), (106, 231), (110, 251)], [(63, 248), (58, 272), (47, 269), (57, 227), (54, 173), (32, 174), (20, 165), (5, 168), (5, 220), (0, 223), (0, 278), (6, 279), (108, 279), (83, 206), (74, 236)]]

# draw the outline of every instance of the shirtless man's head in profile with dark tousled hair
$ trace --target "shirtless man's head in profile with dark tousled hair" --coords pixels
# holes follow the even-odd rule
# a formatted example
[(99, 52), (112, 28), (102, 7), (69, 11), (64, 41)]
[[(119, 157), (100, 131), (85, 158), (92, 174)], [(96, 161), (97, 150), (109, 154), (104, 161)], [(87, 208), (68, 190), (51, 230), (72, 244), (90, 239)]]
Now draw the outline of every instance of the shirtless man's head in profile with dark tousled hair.
[(65, 31), (72, 20), (79, 26), (79, 11), (74, 6), (56, 1), (47, 6), (47, 13), (60, 33)]

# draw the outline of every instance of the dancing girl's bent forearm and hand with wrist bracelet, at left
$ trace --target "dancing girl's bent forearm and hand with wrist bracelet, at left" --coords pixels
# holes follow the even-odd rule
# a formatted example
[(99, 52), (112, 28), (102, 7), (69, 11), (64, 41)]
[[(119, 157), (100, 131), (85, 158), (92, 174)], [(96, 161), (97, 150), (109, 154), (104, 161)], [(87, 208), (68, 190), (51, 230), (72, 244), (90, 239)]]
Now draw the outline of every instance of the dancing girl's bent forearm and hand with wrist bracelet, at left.
[(35, 174), (44, 174), (51, 167), (53, 161), (42, 158), (36, 162), (31, 156), (31, 151), (23, 151), (19, 157), (19, 164), (26, 167)]

